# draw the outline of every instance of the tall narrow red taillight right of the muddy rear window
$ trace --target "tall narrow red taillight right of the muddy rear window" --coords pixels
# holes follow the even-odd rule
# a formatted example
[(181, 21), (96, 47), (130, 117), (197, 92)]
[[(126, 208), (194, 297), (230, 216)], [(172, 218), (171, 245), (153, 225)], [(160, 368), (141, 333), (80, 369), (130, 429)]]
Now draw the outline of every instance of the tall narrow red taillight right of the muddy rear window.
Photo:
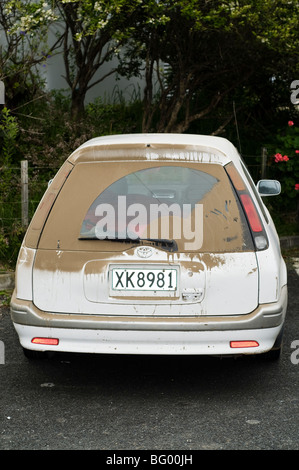
[(235, 166), (232, 163), (229, 163), (225, 168), (239, 196), (239, 200), (245, 212), (254, 239), (255, 247), (257, 250), (264, 250), (268, 246), (268, 241), (261, 218), (256, 210), (252, 197), (245, 187)]

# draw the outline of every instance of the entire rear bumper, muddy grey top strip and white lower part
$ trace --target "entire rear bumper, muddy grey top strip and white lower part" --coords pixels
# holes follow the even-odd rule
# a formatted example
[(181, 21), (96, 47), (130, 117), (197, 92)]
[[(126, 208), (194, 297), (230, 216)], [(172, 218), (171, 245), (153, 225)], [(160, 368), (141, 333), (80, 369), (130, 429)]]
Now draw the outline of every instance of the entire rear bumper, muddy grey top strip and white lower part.
[[(253, 354), (270, 350), (282, 328), (287, 286), (278, 302), (248, 315), (193, 318), (103, 317), (51, 314), (13, 295), (11, 317), (26, 349), (107, 354)], [(58, 338), (57, 346), (33, 345), (33, 337)], [(234, 350), (230, 341), (255, 340)]]

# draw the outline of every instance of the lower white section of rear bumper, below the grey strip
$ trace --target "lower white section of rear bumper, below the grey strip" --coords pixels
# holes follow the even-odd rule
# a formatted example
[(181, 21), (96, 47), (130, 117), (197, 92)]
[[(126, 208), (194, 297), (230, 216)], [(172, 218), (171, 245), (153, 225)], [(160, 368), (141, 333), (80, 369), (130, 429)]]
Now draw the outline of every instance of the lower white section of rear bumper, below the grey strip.
[[(42, 328), (15, 324), (25, 349), (98, 354), (235, 355), (272, 349), (281, 327), (235, 331), (138, 331)], [(33, 345), (34, 337), (58, 338), (57, 346)], [(259, 346), (232, 349), (231, 341)]]

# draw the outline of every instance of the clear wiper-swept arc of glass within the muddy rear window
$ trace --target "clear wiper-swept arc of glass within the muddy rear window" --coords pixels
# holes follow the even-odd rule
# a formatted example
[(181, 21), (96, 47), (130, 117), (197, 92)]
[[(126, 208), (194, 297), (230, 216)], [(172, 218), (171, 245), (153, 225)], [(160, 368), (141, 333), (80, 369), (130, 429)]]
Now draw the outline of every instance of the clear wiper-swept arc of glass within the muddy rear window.
[[(80, 236), (114, 239), (148, 238), (151, 234), (151, 238), (159, 238), (158, 231), (154, 233), (154, 228), (151, 229), (156, 227), (153, 224), (165, 217), (190, 216), (217, 182), (208, 173), (179, 166), (130, 173), (112, 183), (93, 201)], [(167, 237), (166, 230), (164, 235)]]

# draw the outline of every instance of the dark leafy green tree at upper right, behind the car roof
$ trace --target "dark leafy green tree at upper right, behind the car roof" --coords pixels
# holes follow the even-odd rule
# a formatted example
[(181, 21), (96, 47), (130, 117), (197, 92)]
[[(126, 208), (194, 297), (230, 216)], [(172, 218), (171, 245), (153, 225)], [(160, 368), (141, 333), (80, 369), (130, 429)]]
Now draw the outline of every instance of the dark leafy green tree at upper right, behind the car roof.
[[(236, 97), (243, 97), (240, 109), (251, 108), (261, 83), (273, 89), (276, 77), (274, 85), (289, 87), (298, 70), (296, 2), (146, 4), (130, 50), (145, 63), (144, 131), (184, 132), (195, 121), (217, 116), (209, 132), (220, 133), (234, 117)], [(218, 112), (223, 106), (225, 112)]]

